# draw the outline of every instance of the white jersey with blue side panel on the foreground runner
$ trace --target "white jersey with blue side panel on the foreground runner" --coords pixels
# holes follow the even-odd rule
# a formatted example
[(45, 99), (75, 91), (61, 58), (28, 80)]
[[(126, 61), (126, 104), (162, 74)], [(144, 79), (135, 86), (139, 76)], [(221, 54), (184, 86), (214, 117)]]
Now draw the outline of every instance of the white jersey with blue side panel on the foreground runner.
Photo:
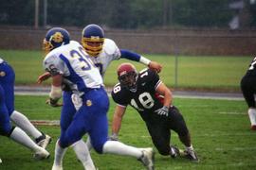
[(62, 74), (72, 90), (86, 92), (87, 89), (100, 88), (102, 77), (99, 69), (88, 58), (79, 42), (70, 41), (52, 50), (43, 63), (52, 76)]

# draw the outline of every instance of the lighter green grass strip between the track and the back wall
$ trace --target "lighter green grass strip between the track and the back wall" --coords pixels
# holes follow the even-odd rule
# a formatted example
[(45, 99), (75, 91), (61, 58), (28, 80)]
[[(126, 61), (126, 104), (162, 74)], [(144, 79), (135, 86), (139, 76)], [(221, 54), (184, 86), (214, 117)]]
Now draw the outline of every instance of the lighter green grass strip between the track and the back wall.
[[(42, 52), (0, 50), (0, 54), (13, 66), (16, 72), (16, 84), (35, 85), (37, 77), (44, 73)], [(175, 81), (174, 56), (145, 55), (145, 57), (163, 65), (160, 76), (170, 88), (228, 89), (229, 91), (239, 90), (240, 79), (246, 73), (252, 59), (252, 57), (179, 56)], [(111, 63), (104, 77), (105, 85), (116, 84), (116, 69), (121, 62), (127, 61), (129, 60), (119, 59)], [(137, 70), (144, 67), (140, 63), (133, 63), (137, 66)]]

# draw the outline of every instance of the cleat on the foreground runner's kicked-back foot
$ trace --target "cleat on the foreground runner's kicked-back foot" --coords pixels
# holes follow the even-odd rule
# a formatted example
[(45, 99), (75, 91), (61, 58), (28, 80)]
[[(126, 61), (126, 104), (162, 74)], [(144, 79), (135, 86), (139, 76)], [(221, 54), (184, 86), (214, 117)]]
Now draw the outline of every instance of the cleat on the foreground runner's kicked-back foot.
[(148, 170), (154, 170), (155, 152), (153, 148), (143, 148), (141, 151), (142, 156), (138, 159), (138, 161), (141, 161)]

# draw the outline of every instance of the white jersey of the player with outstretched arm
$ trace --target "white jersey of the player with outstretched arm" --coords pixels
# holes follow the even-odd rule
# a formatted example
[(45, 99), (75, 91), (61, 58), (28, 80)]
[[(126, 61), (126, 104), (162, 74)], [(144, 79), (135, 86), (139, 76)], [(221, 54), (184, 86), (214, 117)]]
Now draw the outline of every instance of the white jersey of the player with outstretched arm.
[(120, 50), (117, 44), (110, 40), (105, 39), (102, 47), (102, 51), (97, 57), (91, 57), (94, 64), (99, 68), (101, 76), (104, 76), (108, 65), (112, 60), (120, 59)]

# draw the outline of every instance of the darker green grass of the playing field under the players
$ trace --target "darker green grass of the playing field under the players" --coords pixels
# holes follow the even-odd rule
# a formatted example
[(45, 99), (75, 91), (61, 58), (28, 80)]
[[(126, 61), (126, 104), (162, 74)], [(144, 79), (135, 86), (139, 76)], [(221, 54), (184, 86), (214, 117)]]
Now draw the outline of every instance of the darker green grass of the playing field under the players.
[[(50, 108), (45, 104), (46, 96), (16, 96), (16, 110), (25, 113), (30, 120), (58, 120), (60, 108)], [(114, 103), (108, 113), (109, 125), (114, 110)], [(192, 144), (200, 158), (199, 163), (185, 159), (170, 159), (160, 156), (156, 151), (155, 169), (171, 170), (209, 170), (209, 169), (255, 169), (256, 166), (256, 133), (249, 130), (247, 106), (245, 101), (186, 99), (175, 98), (174, 105), (181, 110), (192, 133)], [(32, 153), (26, 148), (11, 142), (8, 138), (0, 138), (0, 158), (3, 170), (46, 170), (53, 162), (54, 144), (60, 134), (60, 127), (39, 126), (53, 137), (48, 150), (51, 157), (46, 161), (34, 161)], [(124, 116), (119, 140), (125, 144), (138, 147), (153, 146), (150, 136), (138, 113), (128, 108)], [(177, 135), (172, 135), (173, 144), (183, 148)], [(92, 151), (92, 158), (100, 170), (134, 170), (144, 169), (139, 161), (133, 158), (98, 155)], [(72, 149), (64, 157), (65, 170), (82, 170), (82, 165), (75, 158)]]

